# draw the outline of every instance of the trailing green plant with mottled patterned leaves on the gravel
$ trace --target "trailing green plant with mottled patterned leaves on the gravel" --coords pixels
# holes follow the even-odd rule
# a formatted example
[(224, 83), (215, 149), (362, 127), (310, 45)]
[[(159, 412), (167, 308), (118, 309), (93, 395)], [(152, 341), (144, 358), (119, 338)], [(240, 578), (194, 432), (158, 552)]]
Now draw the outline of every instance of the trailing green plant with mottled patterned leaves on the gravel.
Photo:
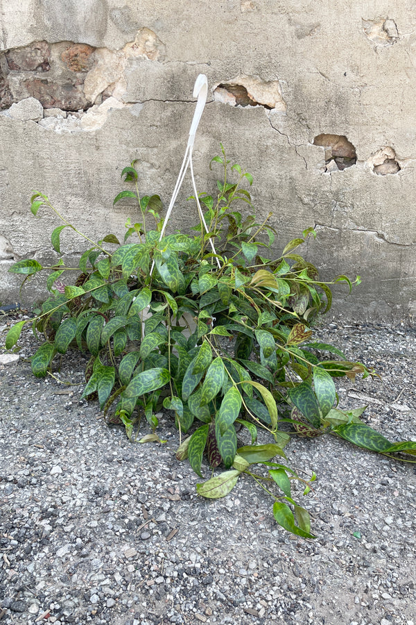
[[(416, 443), (391, 444), (361, 422), (363, 409), (338, 408), (336, 378), (374, 373), (336, 347), (315, 342), (312, 326), (331, 307), (331, 285), (343, 282), (351, 290), (352, 282), (347, 276), (321, 281), (316, 267), (298, 253), (307, 237), (315, 237), (313, 228), (275, 258), (270, 215), (259, 223), (250, 212), (245, 187), (252, 176), (231, 165), (222, 146), (221, 151), (211, 161), (223, 174), (217, 197), (199, 194), (203, 217), (191, 233), (164, 234), (162, 201), (140, 196), (135, 162), (122, 172), (130, 188), (114, 199), (137, 201), (139, 221), (128, 220), (122, 243), (113, 233), (93, 242), (46, 195), (33, 194), (34, 215), (49, 207), (62, 219), (51, 236), (59, 255), (65, 228), (88, 247), (78, 267), (65, 267), (60, 258), (53, 267), (21, 260), (10, 269), (26, 279), (49, 272), (51, 296), (33, 319), (33, 332), (43, 342), (31, 366), (35, 376), (46, 376), (55, 356), (68, 349), (87, 351), (83, 397), (98, 397), (108, 421), (123, 423), (132, 439), (138, 420), (145, 418), (152, 430), (145, 440), (159, 440), (156, 414), (163, 406), (180, 430), (177, 458), (188, 458), (201, 477), (204, 456), (210, 467), (226, 469), (198, 484), (199, 494), (223, 497), (242, 474), (251, 476), (275, 499), (273, 513), (281, 526), (313, 537), (309, 513), (293, 499), (291, 481), (304, 482), (306, 494), (314, 474), (304, 480), (286, 464), (272, 462), (275, 456), (285, 459), (291, 433), (332, 433), (391, 455), (415, 453)], [(62, 274), (69, 269), (78, 277), (64, 285)], [(26, 323), (10, 329), (7, 349)], [(259, 429), (269, 433), (270, 442), (257, 444)], [(239, 430), (247, 431), (250, 444), (239, 447)], [(259, 464), (266, 474), (252, 472), (251, 465)], [(277, 494), (270, 485), (277, 485)]]

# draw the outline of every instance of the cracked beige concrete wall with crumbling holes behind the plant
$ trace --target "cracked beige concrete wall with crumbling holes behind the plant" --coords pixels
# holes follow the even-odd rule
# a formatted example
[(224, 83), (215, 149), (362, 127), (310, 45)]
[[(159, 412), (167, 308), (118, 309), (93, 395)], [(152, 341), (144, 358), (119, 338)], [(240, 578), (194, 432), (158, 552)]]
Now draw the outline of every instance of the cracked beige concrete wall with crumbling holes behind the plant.
[[(13, 259), (56, 260), (58, 222), (29, 213), (33, 188), (81, 230), (122, 236), (134, 209), (112, 199), (138, 158), (141, 191), (167, 205), (200, 72), (198, 188), (214, 189), (208, 164), (223, 142), (254, 175), (257, 215), (274, 213), (276, 253), (313, 225), (305, 252), (322, 276), (362, 276), (347, 299), (337, 290), (335, 310), (413, 319), (410, 0), (0, 0), (0, 301), (44, 297), (36, 280), (19, 295)], [(172, 227), (189, 222), (188, 191)], [(64, 231), (62, 249), (75, 259), (82, 246)]]

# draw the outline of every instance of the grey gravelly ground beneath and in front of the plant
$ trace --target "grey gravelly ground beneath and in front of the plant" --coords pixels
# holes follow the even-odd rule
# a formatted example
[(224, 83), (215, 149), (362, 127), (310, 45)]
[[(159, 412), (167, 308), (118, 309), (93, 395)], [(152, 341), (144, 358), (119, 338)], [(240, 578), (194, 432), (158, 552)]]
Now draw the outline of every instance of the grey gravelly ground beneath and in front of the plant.
[[(17, 318), (0, 317), (1, 344)], [(368, 404), (367, 423), (392, 441), (416, 440), (415, 335), (319, 331), (383, 376), (341, 383), (340, 403)], [(289, 465), (318, 474), (304, 498), (318, 538), (302, 540), (244, 478), (225, 499), (196, 496), (167, 419), (165, 444), (130, 443), (80, 400), (82, 385), (34, 378), (30, 331), (22, 344), (0, 365), (2, 625), (416, 623), (415, 465), (329, 435), (294, 439)], [(74, 354), (57, 375), (80, 383), (84, 362)]]

